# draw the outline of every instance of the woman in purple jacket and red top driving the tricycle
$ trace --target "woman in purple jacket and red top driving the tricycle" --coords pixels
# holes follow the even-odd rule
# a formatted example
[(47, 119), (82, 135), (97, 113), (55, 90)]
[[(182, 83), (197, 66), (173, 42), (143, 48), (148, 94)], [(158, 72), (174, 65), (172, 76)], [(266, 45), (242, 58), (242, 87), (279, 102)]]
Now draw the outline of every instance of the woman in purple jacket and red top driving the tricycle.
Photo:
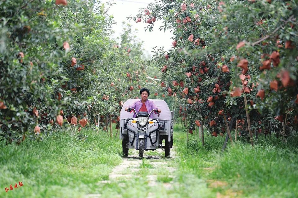
[[(140, 90), (141, 99), (135, 101), (132, 105), (129, 105), (124, 110), (128, 111), (129, 108), (134, 108), (136, 112), (148, 112), (150, 113), (152, 109), (156, 109), (160, 113), (161, 110), (153, 103), (153, 101), (149, 101), (148, 97), (150, 95), (150, 91), (146, 88), (142, 88)], [(156, 113), (156, 112), (155, 112)], [(133, 117), (136, 117), (135, 113), (133, 114)], [(150, 118), (152, 118), (152, 113), (150, 115)]]

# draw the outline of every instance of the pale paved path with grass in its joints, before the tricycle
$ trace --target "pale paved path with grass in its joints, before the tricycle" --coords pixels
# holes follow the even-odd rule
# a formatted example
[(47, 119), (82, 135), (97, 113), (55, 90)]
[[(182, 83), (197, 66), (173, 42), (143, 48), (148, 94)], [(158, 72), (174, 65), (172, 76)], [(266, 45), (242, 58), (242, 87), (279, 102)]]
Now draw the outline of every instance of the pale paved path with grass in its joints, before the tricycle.
[[(144, 159), (138, 159), (138, 152), (130, 149), (129, 156), (123, 158), (123, 162), (116, 166), (109, 180), (100, 181), (100, 183), (117, 183), (119, 186), (126, 183), (132, 183), (136, 177), (142, 177), (147, 187), (168, 191), (174, 187), (174, 175), (176, 171), (174, 158), (175, 152), (171, 149), (171, 157), (164, 158), (165, 152), (161, 149), (155, 151), (145, 151)], [(156, 191), (152, 190), (147, 193), (148, 198), (156, 197)], [(87, 197), (103, 197), (101, 194), (89, 194)]]

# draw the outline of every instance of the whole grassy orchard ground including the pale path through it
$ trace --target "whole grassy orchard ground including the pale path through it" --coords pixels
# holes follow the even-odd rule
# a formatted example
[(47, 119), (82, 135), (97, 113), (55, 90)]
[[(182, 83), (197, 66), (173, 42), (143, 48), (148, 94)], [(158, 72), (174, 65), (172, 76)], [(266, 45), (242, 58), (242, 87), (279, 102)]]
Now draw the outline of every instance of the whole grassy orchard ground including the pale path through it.
[[(174, 157), (145, 151), (147, 158), (122, 158), (119, 137), (83, 129), (86, 141), (56, 131), (41, 142), (1, 142), (0, 197), (297, 197), (297, 138), (287, 145), (274, 136), (228, 144), (224, 137), (198, 133), (189, 142), (182, 125), (174, 127)], [(114, 131), (115, 134), (115, 131)], [(233, 134), (233, 131), (232, 131)], [(243, 140), (242, 140), (243, 142)], [(245, 141), (244, 141), (245, 142)], [(296, 145), (295, 145), (296, 144)], [(130, 150), (133, 153), (135, 151)], [(115, 167), (133, 161), (130, 177), (112, 178)], [(156, 166), (159, 164), (159, 166)], [(22, 182), (24, 186), (5, 191)]]

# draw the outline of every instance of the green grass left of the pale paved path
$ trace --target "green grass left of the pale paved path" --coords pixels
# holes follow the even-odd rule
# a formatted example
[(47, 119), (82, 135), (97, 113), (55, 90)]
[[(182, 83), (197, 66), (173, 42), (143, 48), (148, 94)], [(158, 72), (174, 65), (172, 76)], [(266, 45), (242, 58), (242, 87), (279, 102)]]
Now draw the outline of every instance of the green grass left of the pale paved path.
[[(108, 179), (111, 169), (121, 163), (121, 144), (103, 132), (82, 133), (88, 135), (85, 142), (59, 131), (39, 143), (1, 142), (0, 197), (80, 197), (97, 191), (96, 183)], [(19, 181), (24, 186), (4, 190)]]

